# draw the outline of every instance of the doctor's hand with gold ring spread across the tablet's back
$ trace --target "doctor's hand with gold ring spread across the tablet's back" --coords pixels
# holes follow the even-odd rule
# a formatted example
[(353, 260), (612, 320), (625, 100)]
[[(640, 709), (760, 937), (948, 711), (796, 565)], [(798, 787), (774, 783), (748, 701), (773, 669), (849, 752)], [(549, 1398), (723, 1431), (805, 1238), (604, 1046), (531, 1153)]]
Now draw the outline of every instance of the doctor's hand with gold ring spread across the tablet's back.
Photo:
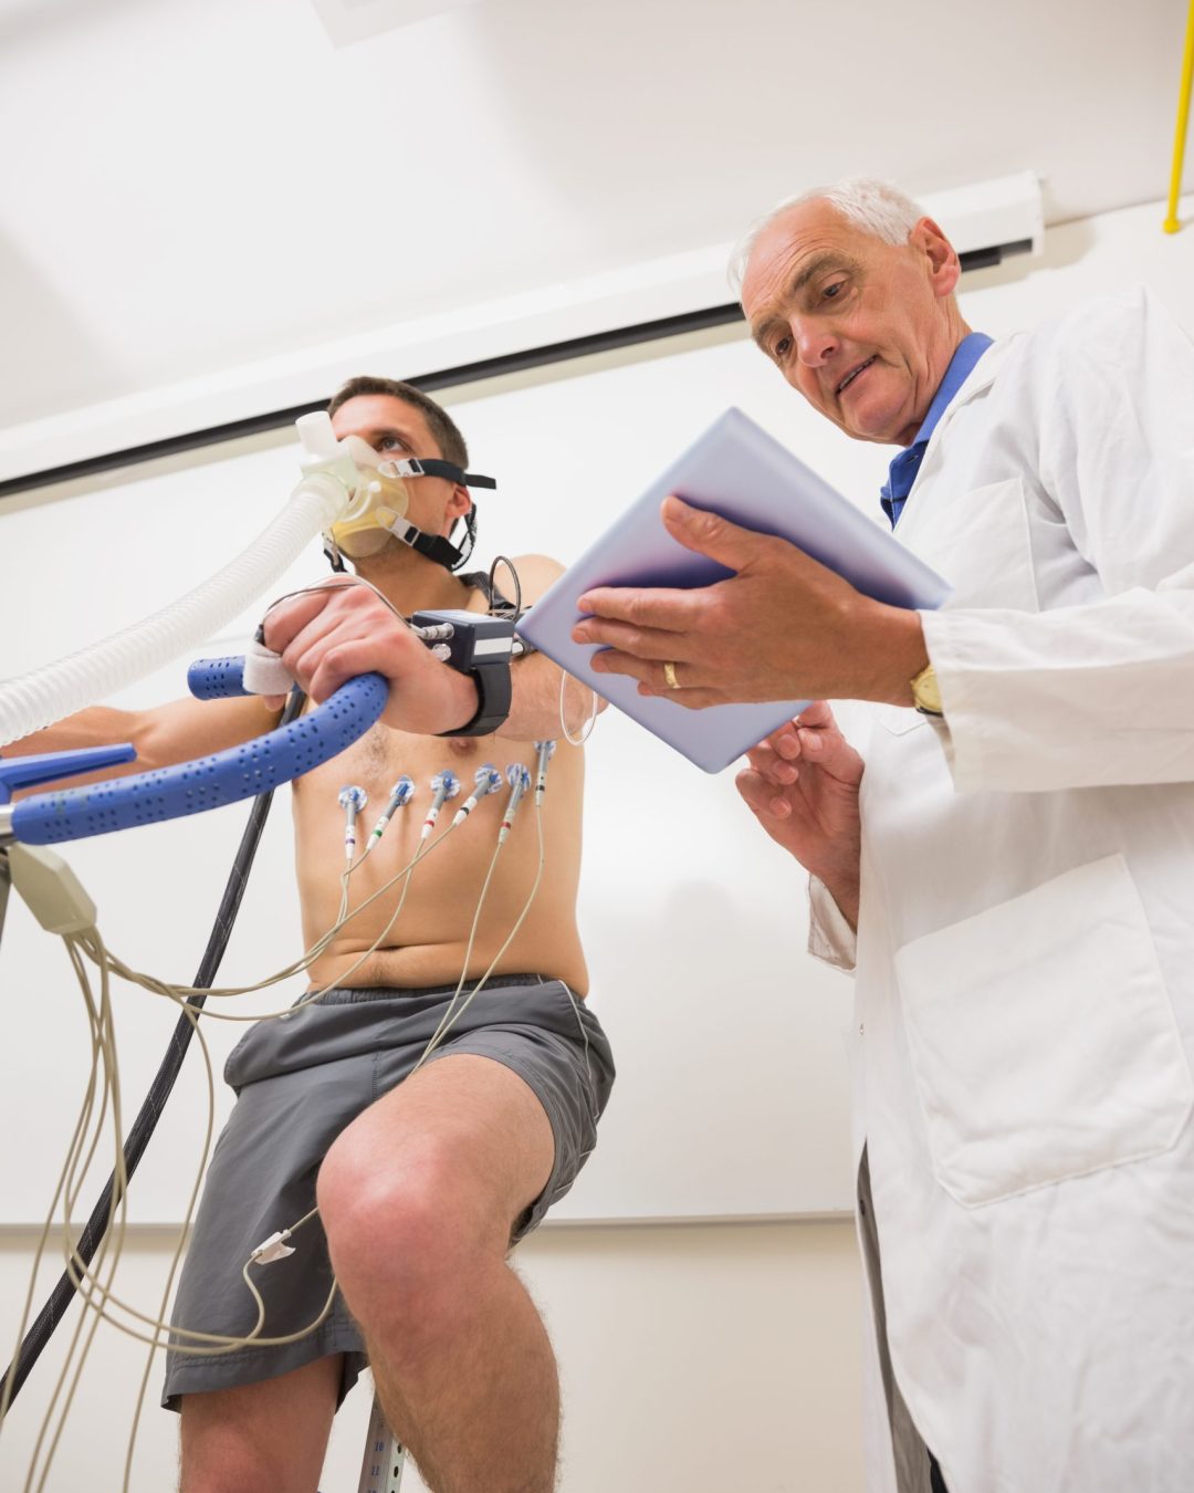
[[(667, 532), (736, 573), (694, 590), (597, 587), (576, 642), (601, 643), (598, 673), (630, 675), (639, 694), (701, 709), (793, 699), (912, 705), (909, 679), (928, 663), (916, 612), (857, 591), (787, 539), (757, 534), (678, 497)], [(666, 664), (672, 669), (666, 670)]]

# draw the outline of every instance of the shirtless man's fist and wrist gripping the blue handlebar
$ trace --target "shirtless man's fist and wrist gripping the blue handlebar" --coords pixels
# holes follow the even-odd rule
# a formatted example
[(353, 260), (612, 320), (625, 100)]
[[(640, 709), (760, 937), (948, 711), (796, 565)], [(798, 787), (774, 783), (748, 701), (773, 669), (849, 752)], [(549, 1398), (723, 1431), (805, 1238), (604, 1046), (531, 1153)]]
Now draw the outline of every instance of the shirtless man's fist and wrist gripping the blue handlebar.
[(358, 673), (381, 673), (390, 681), (387, 726), (431, 736), (476, 715), (473, 681), (440, 663), (355, 576), (284, 597), (266, 615), (264, 642), (316, 705)]

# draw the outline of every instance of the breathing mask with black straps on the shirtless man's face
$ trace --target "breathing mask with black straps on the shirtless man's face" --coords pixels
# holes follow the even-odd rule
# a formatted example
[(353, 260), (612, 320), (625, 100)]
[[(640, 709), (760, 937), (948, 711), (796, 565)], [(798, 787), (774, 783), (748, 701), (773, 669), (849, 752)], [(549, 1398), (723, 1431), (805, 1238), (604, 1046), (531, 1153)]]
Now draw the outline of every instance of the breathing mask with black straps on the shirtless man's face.
[(442, 534), (427, 534), (409, 523), (409, 484), (421, 476), (442, 476), (463, 487), (497, 487), (493, 478), (463, 472), (452, 461), (437, 458), (384, 457), (360, 436), (345, 436), (340, 442), (357, 467), (358, 482), (343, 518), (324, 533), (324, 551), (333, 569), (342, 570), (340, 555), (349, 560), (364, 560), (385, 548), (390, 539), (418, 549), (449, 570), (457, 569), (469, 557), (475, 532), (470, 512), (466, 518), (469, 546), (458, 549)]

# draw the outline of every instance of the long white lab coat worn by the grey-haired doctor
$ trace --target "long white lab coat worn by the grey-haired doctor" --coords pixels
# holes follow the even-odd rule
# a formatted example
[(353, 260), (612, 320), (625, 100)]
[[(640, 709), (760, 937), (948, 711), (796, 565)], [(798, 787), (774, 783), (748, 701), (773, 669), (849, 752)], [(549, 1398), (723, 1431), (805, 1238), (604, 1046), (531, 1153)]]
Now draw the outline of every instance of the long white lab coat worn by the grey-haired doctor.
[(1143, 288), (997, 342), (897, 533), (955, 590), (946, 724), (881, 706), (864, 751), (896, 1377), (951, 1493), (1193, 1493), (1194, 348)]

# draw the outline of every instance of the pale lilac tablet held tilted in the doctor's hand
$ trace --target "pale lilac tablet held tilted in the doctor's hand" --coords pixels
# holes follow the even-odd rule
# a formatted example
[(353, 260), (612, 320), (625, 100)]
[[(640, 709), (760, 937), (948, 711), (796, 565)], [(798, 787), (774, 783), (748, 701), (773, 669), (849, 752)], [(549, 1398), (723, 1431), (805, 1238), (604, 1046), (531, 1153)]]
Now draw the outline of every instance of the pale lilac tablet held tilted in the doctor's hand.
[[(704, 772), (721, 772), (809, 702), (690, 711), (673, 700), (640, 696), (636, 679), (594, 673), (590, 660), (597, 646), (572, 640), (582, 617), (576, 600), (596, 585), (690, 588), (733, 573), (667, 533), (660, 505), (672, 493), (743, 529), (790, 539), (876, 600), (936, 608), (949, 594), (949, 585), (891, 533), (740, 409), (727, 409), (518, 623), (519, 636)], [(776, 618), (776, 626), (784, 620)], [(764, 639), (760, 646), (766, 646)]]

